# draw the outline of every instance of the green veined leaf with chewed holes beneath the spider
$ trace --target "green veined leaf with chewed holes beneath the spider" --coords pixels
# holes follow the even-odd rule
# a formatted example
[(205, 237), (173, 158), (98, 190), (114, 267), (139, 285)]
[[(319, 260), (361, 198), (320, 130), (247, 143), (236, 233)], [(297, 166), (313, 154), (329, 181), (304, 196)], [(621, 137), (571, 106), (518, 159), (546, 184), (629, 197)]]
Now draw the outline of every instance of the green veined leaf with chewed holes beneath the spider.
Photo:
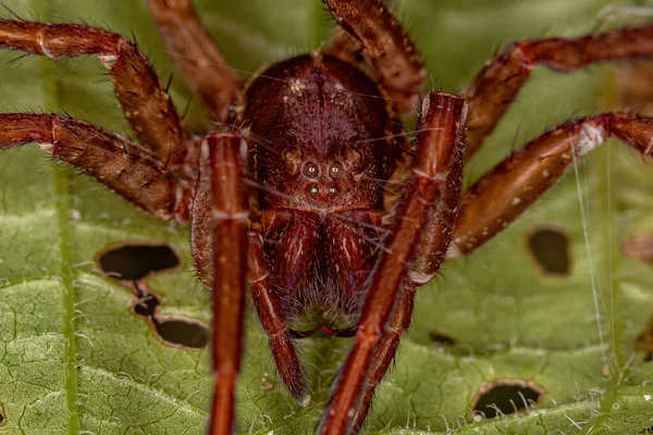
[[(160, 76), (173, 72), (145, 2), (3, 0), (42, 21), (133, 32)], [(317, 0), (196, 0), (204, 22), (243, 76), (316, 49), (333, 29)], [(593, 29), (608, 0), (404, 0), (397, 13), (424, 53), (429, 87), (459, 90), (495, 47)], [(7, 13), (5, 15), (9, 15)], [(95, 58), (10, 63), (0, 53), (0, 111), (62, 111), (128, 134)], [(615, 108), (616, 66), (571, 75), (538, 69), (467, 169), (475, 179), (512, 144), (563, 120)], [(178, 76), (172, 96), (188, 91)], [(186, 119), (206, 128), (198, 99)], [(651, 165), (606, 144), (535, 207), (469, 259), (419, 290), (410, 332), (384, 378), (368, 433), (630, 434), (653, 425), (653, 363), (632, 352), (653, 313), (653, 277), (619, 244), (653, 228)], [(580, 199), (579, 199), (580, 198)], [(582, 208), (581, 208), (582, 204)], [(529, 253), (533, 228), (564, 228), (571, 269), (544, 276)], [(149, 279), (161, 315), (210, 321), (187, 228), (144, 215), (99, 184), (50, 164), (34, 146), (0, 156), (0, 434), (201, 434), (210, 400), (206, 351), (163, 343), (131, 311), (134, 295), (102, 276), (97, 258), (124, 243), (168, 244), (182, 265)], [(280, 385), (267, 339), (248, 315), (238, 384), (242, 433), (313, 433), (348, 339), (301, 341), (311, 401)], [(453, 345), (433, 341), (451, 337)], [(494, 381), (537, 386), (527, 412), (475, 421), (475, 397)], [(519, 407), (520, 403), (517, 403)]]

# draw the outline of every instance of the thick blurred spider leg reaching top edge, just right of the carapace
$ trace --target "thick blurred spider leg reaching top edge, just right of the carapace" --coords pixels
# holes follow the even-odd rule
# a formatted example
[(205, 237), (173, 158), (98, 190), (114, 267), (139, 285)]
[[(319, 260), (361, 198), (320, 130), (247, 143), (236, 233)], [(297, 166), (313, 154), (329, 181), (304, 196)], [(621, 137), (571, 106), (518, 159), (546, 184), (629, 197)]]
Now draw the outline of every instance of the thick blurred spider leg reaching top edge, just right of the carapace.
[[(401, 113), (415, 110), (427, 72), (408, 35), (380, 0), (322, 0), (360, 44), (377, 82)], [(349, 42), (345, 47), (350, 46)]]

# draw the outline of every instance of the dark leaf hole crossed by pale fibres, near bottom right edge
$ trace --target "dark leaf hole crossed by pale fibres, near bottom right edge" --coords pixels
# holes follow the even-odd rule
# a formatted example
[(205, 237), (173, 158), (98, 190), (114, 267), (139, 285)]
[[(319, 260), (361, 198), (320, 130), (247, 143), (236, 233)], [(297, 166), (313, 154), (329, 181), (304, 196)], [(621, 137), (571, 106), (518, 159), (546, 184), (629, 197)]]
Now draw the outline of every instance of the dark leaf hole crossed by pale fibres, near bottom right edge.
[(544, 390), (527, 381), (496, 381), (483, 387), (471, 409), (478, 419), (523, 412), (544, 399)]

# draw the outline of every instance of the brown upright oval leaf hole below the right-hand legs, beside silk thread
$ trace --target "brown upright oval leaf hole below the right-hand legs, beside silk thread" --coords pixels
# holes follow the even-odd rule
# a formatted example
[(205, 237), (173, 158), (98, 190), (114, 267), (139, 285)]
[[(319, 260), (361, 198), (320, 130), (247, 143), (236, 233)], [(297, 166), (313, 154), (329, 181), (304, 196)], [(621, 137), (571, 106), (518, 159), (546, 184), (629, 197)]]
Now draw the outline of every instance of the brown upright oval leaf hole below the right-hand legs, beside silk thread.
[(528, 249), (542, 273), (568, 275), (571, 269), (569, 259), (569, 237), (556, 226), (535, 227), (528, 234)]

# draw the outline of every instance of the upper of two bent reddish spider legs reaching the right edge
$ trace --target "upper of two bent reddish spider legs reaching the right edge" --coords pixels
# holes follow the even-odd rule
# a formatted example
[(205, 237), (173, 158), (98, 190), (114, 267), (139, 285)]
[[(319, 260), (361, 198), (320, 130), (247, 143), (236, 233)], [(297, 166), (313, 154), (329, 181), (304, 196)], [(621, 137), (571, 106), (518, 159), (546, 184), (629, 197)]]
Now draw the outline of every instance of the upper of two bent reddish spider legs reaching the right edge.
[(465, 91), (470, 111), (466, 158), (470, 158), (482, 145), (538, 64), (559, 72), (572, 72), (595, 62), (652, 55), (653, 26), (611, 30), (576, 39), (541, 38), (512, 44), (485, 62)]

